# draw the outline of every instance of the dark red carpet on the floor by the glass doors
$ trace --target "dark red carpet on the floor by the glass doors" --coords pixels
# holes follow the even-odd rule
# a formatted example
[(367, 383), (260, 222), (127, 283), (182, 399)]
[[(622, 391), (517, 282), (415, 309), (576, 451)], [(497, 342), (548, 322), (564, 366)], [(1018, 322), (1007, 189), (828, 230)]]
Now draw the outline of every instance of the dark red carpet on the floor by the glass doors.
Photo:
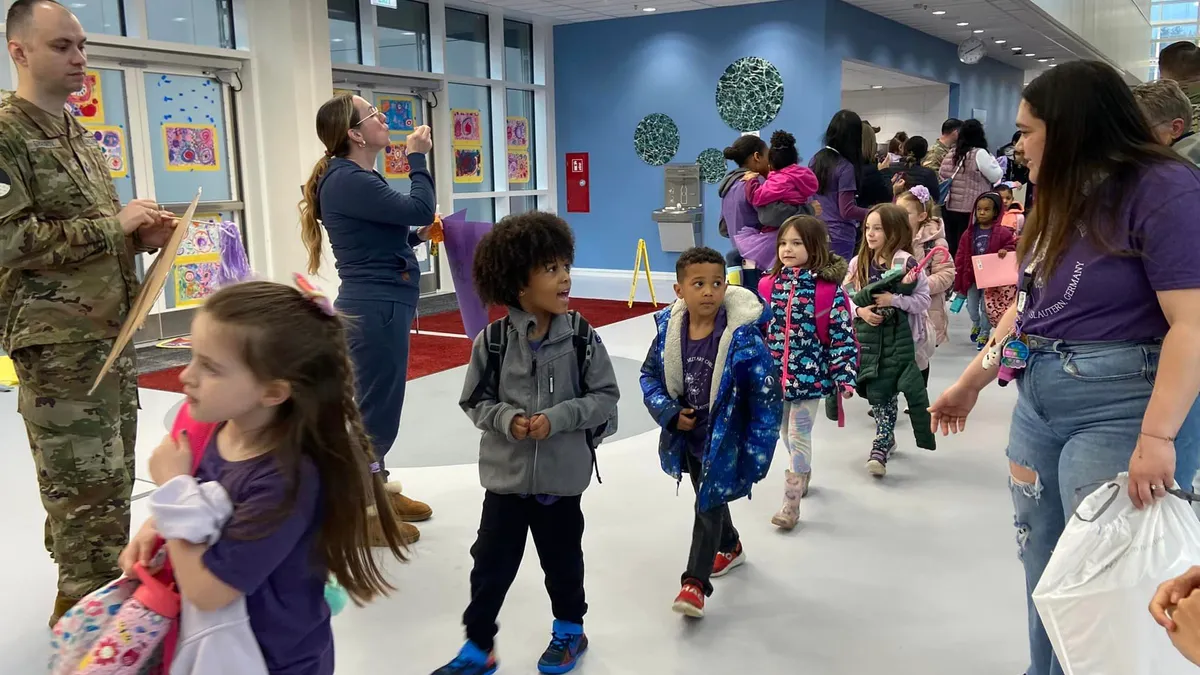
[[(626, 318), (642, 316), (655, 311), (649, 303), (634, 303), (630, 307), (622, 300), (590, 300), (572, 299), (571, 309), (588, 318), (596, 328), (610, 325)], [(493, 307), (492, 319), (504, 316), (504, 310)], [(433, 333), (449, 333), (462, 335), (462, 316), (457, 310), (431, 316), (422, 316), (413, 325), (414, 329), (428, 330)], [(408, 378), (416, 380), (451, 368), (466, 365), (470, 360), (470, 340), (466, 338), (445, 338), (442, 335), (422, 335), (414, 333), (408, 352)], [(168, 368), (155, 372), (146, 372), (138, 376), (138, 384), (145, 389), (157, 389), (160, 392), (182, 392), (179, 384), (179, 374), (184, 366)]]

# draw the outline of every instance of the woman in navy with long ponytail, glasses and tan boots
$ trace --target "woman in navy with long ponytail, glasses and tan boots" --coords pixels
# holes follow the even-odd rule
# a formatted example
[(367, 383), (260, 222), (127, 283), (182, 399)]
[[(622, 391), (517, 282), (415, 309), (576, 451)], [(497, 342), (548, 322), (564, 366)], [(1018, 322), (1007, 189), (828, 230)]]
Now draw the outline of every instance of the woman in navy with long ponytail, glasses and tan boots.
[[(426, 155), (433, 149), (430, 127), (408, 136), (408, 195), (397, 192), (376, 172), (388, 147), (383, 113), (359, 96), (330, 98), (317, 112), (317, 136), (325, 156), (317, 161), (300, 201), (300, 235), (308, 250), (308, 273), (322, 262), (322, 226), (329, 233), (342, 286), (337, 310), (349, 322), (355, 400), (384, 473), (384, 455), (400, 430), (408, 378), (408, 341), (421, 270), (413, 246), (428, 239), (437, 198)], [(389, 484), (392, 507), (403, 524), (407, 543), (420, 532), (410, 522), (428, 519), (428, 506), (400, 494)], [(372, 528), (372, 536), (379, 534)], [(382, 537), (378, 545), (386, 545)]]

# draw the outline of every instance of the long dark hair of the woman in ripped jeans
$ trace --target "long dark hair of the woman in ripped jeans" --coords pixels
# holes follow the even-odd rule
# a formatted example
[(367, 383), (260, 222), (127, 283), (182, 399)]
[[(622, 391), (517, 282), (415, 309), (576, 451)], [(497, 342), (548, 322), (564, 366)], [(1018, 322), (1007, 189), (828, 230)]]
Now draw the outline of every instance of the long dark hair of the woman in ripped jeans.
[(1108, 64), (1050, 68), (1021, 97), (1046, 133), (1020, 259), (1038, 261), (1036, 274), (1045, 282), (1079, 233), (1100, 251), (1127, 252), (1115, 216), (1142, 169), (1183, 160), (1154, 141), (1129, 86)]

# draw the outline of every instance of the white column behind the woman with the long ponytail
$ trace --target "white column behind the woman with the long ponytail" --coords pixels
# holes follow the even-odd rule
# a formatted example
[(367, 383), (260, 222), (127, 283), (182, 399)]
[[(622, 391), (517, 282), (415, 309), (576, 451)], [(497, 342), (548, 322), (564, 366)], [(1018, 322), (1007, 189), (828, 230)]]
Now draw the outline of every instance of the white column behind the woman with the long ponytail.
[[(305, 271), (300, 240), (301, 186), (324, 148), (317, 108), (332, 96), (329, 14), (324, 0), (254, 0), (246, 4), (253, 35), (251, 67), (239, 106), (247, 247), (254, 270), (288, 282)], [(332, 256), (323, 285), (337, 283)]]

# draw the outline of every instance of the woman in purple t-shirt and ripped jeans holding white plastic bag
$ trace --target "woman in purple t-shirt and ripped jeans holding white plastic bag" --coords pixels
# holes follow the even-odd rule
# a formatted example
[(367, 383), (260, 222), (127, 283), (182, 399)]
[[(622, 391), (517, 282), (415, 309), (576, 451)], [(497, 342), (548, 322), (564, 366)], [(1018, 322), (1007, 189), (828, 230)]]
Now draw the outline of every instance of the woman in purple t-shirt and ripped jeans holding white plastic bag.
[[(1139, 508), (1172, 483), (1192, 489), (1200, 171), (1154, 143), (1129, 88), (1099, 61), (1034, 79), (1016, 126), (1038, 203), (1018, 251), (1026, 297), (990, 346), (1015, 334), (1030, 351), (1008, 442), (1030, 591), (1078, 502), (1118, 473)], [(996, 377), (986, 353), (934, 404), (935, 429), (964, 430)], [(1028, 617), (1028, 675), (1061, 674), (1032, 602)]]

